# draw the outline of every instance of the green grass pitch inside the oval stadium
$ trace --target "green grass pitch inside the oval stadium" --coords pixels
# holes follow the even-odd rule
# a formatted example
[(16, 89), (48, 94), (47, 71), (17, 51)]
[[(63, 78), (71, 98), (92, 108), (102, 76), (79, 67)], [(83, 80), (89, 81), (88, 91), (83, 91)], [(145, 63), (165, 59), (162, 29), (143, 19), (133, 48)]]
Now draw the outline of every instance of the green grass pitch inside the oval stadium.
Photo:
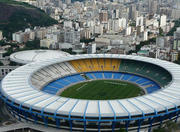
[(95, 80), (70, 86), (63, 97), (88, 100), (109, 100), (135, 97), (144, 91), (135, 84), (116, 80)]

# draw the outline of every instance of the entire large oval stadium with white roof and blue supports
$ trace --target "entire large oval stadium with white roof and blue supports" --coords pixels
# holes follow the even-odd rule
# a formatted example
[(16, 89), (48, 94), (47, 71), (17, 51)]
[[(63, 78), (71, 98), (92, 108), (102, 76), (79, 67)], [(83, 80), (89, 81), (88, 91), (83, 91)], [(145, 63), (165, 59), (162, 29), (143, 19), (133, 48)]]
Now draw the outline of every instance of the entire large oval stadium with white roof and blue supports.
[(71, 131), (151, 131), (178, 120), (180, 67), (140, 56), (65, 56), (12, 71), (1, 98), (20, 121)]

